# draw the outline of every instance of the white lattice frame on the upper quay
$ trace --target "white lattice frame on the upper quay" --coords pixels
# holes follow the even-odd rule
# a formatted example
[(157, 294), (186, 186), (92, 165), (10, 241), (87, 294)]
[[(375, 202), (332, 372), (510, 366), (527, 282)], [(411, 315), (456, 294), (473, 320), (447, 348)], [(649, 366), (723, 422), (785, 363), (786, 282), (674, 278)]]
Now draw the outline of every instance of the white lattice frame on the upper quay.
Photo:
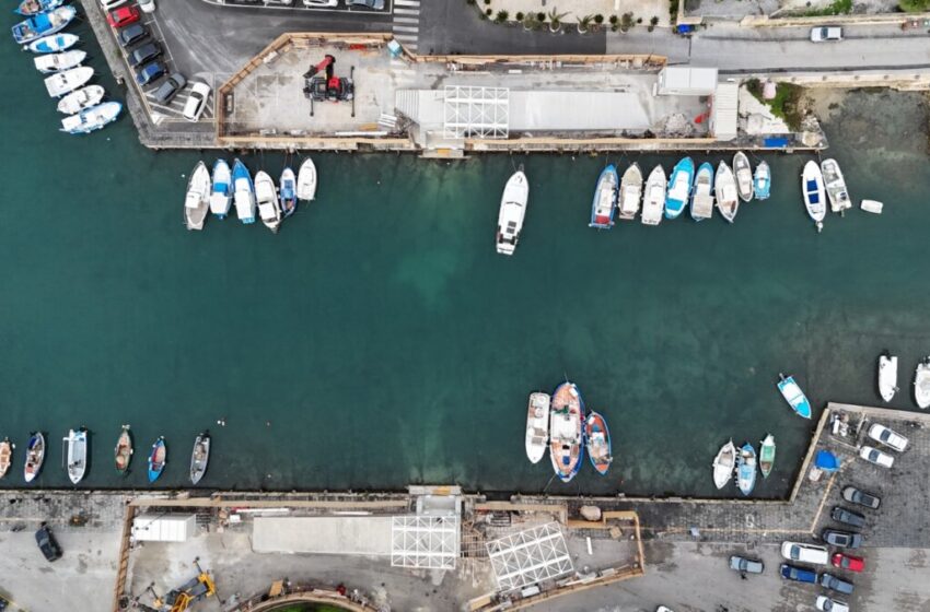
[(446, 85), (442, 126), (445, 138), (507, 138), (510, 90)]

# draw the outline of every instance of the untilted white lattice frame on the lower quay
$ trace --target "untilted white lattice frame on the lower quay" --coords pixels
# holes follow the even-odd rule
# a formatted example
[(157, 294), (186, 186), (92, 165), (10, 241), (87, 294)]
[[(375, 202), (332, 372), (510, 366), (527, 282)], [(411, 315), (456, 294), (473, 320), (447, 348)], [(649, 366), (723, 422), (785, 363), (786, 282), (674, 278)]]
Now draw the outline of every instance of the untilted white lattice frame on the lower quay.
[(457, 516), (397, 516), (391, 521), (391, 565), (455, 569), (461, 548)]

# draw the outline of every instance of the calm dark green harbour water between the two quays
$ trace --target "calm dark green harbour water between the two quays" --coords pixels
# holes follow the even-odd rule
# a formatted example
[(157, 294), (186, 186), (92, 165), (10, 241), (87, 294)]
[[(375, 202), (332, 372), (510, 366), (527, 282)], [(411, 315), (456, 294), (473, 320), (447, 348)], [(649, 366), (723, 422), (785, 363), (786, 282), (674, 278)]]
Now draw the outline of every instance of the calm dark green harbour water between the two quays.
[[(199, 155), (143, 149), (128, 117), (60, 134), (31, 58), (8, 40), (0, 59), (0, 436), (19, 447), (4, 485), (23, 483), (34, 429), (51, 442), (37, 484), (68, 484), (60, 439), (86, 425), (82, 486), (147, 486), (159, 435), (159, 485), (183, 485), (209, 428), (208, 486), (708, 494), (717, 448), (770, 432), (778, 461), (757, 491), (783, 495), (812, 424), (783, 405), (779, 372), (817, 407), (876, 404), (881, 350), (900, 355), (907, 390), (930, 353), (919, 98), (895, 98), (903, 110), (881, 132), (876, 94), (832, 123), (853, 198), (886, 212), (830, 216), (822, 235), (800, 203), (804, 155), (766, 156), (774, 198), (744, 204), (732, 226), (586, 227), (607, 160), (648, 170), (671, 156), (316, 155), (318, 200), (280, 235), (214, 219), (188, 233), (185, 175)], [(276, 177), (284, 163), (246, 160)], [(516, 163), (531, 203), (507, 259), (493, 234)], [(606, 478), (585, 464), (550, 483), (548, 459), (525, 459), (526, 397), (566, 377), (608, 419)], [(127, 479), (112, 467), (123, 423), (137, 443)]]

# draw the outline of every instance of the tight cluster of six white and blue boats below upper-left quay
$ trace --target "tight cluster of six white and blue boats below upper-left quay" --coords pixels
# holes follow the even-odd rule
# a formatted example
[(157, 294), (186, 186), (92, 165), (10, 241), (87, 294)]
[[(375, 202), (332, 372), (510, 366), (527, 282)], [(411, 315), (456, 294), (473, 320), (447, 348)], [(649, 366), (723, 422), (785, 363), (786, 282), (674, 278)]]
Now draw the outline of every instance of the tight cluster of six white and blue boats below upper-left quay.
[(239, 220), (255, 223), (256, 212), (261, 223), (277, 233), (281, 222), (297, 211), (298, 201), (316, 198), (316, 166), (306, 158), (298, 174), (290, 167), (281, 173), (278, 186), (265, 170), (253, 179), (241, 160), (232, 168), (225, 160), (217, 160), (212, 176), (204, 162), (198, 162), (187, 181), (184, 198), (184, 222), (188, 229), (202, 229), (207, 214), (224, 219), (235, 204)]

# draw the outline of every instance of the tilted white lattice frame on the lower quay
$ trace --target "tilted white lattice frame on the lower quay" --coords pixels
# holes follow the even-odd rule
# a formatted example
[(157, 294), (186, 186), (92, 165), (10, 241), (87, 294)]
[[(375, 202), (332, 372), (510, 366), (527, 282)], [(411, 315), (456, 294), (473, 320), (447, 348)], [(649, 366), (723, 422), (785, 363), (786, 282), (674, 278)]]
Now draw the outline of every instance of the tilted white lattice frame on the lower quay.
[(547, 522), (487, 543), (502, 591), (572, 574), (574, 566), (558, 523)]

